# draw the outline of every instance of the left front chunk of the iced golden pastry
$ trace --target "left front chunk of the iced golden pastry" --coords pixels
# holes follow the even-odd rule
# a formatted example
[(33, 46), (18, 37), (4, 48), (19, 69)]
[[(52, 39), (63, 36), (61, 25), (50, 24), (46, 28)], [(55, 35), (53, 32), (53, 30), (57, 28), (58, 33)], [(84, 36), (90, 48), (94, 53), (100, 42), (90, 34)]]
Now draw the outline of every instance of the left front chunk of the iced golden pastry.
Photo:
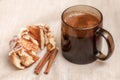
[(38, 42), (29, 34), (27, 28), (23, 29), (18, 37), (14, 37), (9, 45), (10, 61), (19, 69), (25, 69), (39, 59)]

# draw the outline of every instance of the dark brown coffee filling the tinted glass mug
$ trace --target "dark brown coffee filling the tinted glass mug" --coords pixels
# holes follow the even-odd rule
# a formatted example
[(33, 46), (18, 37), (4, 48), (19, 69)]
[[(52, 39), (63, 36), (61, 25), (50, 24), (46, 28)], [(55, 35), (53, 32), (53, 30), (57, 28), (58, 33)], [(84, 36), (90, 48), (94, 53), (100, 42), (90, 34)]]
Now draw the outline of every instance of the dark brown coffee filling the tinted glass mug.
[[(79, 13), (67, 16), (65, 22), (75, 28), (89, 28), (97, 25), (99, 20), (91, 14)], [(62, 31), (62, 53), (66, 59), (77, 64), (87, 64), (97, 59), (96, 42), (100, 48), (101, 39), (94, 35), (96, 29), (77, 32), (62, 24)]]

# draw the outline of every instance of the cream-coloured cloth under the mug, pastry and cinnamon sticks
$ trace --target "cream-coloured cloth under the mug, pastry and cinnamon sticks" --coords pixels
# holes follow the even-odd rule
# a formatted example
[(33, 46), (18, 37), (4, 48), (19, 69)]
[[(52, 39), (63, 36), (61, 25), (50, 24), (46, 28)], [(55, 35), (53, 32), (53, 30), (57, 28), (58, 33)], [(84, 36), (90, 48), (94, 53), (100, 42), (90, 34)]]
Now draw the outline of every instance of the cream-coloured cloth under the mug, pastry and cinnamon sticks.
[[(98, 8), (104, 16), (104, 28), (114, 38), (112, 57), (76, 65), (62, 57), (61, 51), (48, 75), (33, 73), (37, 63), (17, 70), (9, 61), (8, 42), (20, 28), (30, 24), (49, 24), (60, 48), (61, 13), (72, 5), (86, 4)], [(106, 51), (107, 47), (103, 48)], [(38, 53), (41, 57), (44, 54)], [(120, 80), (120, 1), (119, 0), (0, 0), (0, 80)]]

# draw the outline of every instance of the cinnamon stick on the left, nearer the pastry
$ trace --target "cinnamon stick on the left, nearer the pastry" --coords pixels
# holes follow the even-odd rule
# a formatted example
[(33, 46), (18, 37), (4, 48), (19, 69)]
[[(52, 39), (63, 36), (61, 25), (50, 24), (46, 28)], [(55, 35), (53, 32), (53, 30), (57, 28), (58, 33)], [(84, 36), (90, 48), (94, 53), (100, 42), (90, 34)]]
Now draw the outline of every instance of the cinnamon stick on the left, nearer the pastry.
[(50, 57), (50, 52), (47, 52), (43, 56), (43, 58), (40, 60), (40, 62), (38, 63), (38, 65), (36, 66), (35, 71), (34, 71), (35, 74), (38, 75), (40, 73), (41, 69), (43, 68), (43, 66), (45, 65), (45, 63), (49, 59), (49, 57)]

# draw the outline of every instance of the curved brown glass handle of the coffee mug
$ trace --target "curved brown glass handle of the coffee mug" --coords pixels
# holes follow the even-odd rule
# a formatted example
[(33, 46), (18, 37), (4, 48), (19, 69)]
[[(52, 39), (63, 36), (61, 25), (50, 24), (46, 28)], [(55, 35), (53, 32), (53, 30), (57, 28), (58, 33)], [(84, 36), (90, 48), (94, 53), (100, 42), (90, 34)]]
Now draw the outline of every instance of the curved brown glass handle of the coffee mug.
[(96, 35), (102, 36), (106, 40), (107, 45), (108, 45), (107, 55), (103, 54), (101, 51), (98, 51), (96, 56), (100, 60), (106, 60), (113, 54), (113, 51), (114, 51), (114, 48), (115, 48), (113, 37), (107, 30), (105, 30), (103, 28), (100, 28), (96, 32)]

